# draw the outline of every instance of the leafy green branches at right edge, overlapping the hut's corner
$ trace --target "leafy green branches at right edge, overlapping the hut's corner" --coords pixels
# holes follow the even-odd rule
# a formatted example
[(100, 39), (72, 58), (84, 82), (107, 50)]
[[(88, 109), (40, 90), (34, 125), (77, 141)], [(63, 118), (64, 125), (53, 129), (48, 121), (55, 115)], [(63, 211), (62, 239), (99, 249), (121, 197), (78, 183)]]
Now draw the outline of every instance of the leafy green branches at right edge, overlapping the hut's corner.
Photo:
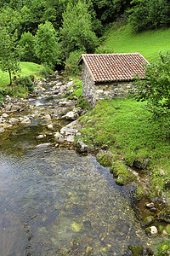
[(148, 109), (156, 116), (170, 113), (170, 56), (160, 53), (159, 59), (147, 65), (144, 80), (137, 78), (135, 98), (148, 101)]

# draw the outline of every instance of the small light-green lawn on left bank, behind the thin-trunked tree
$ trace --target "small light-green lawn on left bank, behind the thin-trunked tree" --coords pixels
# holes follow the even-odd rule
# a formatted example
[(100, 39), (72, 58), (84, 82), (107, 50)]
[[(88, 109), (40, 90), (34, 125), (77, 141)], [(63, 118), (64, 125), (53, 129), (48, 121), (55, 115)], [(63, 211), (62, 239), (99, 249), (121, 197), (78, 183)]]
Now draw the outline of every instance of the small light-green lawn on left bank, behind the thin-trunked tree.
[[(26, 76), (30, 74), (37, 74), (42, 69), (41, 65), (32, 62), (20, 62), (21, 73), (20, 76)], [(8, 73), (0, 70), (0, 88), (4, 88), (9, 84)]]

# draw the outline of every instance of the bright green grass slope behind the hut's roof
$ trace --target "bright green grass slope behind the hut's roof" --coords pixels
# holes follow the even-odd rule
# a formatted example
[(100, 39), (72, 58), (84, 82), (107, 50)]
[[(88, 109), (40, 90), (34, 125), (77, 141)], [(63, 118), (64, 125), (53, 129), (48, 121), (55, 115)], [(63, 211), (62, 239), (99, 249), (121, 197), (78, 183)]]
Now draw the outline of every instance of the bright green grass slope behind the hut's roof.
[(160, 51), (170, 49), (170, 28), (136, 33), (128, 24), (113, 26), (103, 46), (111, 53), (140, 52), (148, 61), (155, 61)]

